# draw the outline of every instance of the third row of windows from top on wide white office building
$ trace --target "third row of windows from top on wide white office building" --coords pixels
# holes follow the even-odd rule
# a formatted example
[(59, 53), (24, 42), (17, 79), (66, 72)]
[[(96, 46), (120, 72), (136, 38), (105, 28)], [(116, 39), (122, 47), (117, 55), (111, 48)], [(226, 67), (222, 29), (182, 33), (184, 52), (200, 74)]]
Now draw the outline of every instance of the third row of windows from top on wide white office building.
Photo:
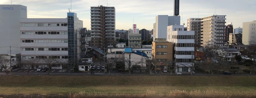
[(68, 40), (67, 39), (64, 39), (64, 40), (33, 40), (33, 39), (22, 39), (21, 42), (36, 42), (36, 43), (50, 43), (50, 42), (57, 42), (57, 43), (60, 43), (60, 42), (64, 42), (64, 43), (67, 43)]

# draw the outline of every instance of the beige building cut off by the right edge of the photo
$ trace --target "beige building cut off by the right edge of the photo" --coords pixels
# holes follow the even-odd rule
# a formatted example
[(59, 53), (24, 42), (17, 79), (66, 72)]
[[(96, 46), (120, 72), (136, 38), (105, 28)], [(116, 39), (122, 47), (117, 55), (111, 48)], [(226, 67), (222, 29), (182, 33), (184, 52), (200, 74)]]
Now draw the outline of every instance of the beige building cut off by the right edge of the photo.
[(243, 22), (243, 33), (242, 33), (242, 43), (244, 45), (256, 44), (256, 20), (252, 22)]

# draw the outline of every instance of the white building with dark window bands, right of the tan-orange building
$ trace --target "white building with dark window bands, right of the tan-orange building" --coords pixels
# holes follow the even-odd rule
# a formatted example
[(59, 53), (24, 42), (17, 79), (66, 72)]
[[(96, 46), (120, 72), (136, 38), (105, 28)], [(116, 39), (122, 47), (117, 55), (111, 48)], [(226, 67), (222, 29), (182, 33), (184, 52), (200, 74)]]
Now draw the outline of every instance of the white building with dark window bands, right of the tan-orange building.
[(191, 73), (194, 58), (194, 31), (184, 31), (183, 25), (167, 27), (167, 41), (174, 45), (177, 73)]

